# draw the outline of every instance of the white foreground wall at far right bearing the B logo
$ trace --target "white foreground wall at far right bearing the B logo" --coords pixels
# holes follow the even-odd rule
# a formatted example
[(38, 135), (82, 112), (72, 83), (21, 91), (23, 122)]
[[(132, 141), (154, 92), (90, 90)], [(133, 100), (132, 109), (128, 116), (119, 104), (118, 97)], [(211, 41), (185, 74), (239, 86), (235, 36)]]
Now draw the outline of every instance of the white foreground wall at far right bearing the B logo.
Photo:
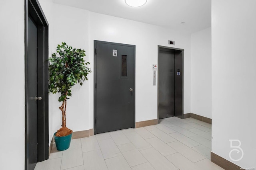
[[(256, 167), (255, 6), (254, 0), (212, 1), (212, 152), (247, 168)], [(229, 158), (230, 139), (241, 141), (242, 160)]]

